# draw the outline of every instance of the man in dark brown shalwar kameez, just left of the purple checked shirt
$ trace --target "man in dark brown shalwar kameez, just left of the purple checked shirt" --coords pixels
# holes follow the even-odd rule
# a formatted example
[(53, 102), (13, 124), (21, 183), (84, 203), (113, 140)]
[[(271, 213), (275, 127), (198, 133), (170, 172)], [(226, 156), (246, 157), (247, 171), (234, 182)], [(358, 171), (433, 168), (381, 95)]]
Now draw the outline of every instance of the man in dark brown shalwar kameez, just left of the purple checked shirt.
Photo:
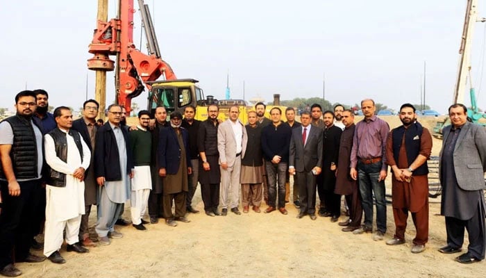
[(344, 131), (340, 139), (339, 159), (336, 169), (336, 188), (334, 193), (345, 195), (346, 203), (349, 205), (349, 220), (339, 222), (340, 226), (346, 226), (342, 231), (354, 231), (360, 228), (363, 208), (361, 206), (361, 196), (358, 183), (349, 174), (351, 164), (351, 148), (353, 147), (354, 137), (354, 113), (346, 109), (342, 113)]

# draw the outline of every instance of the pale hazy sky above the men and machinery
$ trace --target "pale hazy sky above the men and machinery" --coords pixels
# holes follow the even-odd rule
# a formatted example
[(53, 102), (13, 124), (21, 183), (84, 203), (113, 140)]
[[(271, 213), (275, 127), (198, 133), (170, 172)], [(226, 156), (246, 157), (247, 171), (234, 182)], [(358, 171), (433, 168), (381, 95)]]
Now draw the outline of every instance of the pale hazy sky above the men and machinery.
[[(486, 3), (479, 1), (480, 16)], [(178, 78), (199, 80), (205, 95), (266, 101), (325, 97), (346, 105), (373, 98), (398, 109), (420, 103), (426, 62), (426, 104), (444, 113), (452, 103), (467, 0), (146, 0), (162, 58)], [(109, 0), (108, 18), (116, 16)], [(135, 8), (138, 9), (135, 0)], [(135, 13), (135, 43), (142, 24)], [(3, 1), (0, 107), (21, 90), (43, 88), (51, 106), (78, 109), (94, 98), (92, 55), (97, 0)], [(476, 24), (471, 76), (486, 109), (484, 23)], [(114, 59), (114, 57), (113, 57)], [(115, 99), (108, 73), (107, 104)], [(243, 96), (244, 92), (244, 96)], [(146, 107), (146, 92), (134, 99)], [(469, 105), (469, 98), (464, 101)]]

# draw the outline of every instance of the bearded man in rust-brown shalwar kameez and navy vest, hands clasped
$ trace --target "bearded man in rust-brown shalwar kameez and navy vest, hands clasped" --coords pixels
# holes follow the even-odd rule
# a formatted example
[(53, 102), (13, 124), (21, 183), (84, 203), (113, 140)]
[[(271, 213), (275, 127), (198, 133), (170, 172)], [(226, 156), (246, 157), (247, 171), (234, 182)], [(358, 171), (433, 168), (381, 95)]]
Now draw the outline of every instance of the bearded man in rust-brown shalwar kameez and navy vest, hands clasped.
[(428, 240), (428, 166), (432, 136), (417, 122), (412, 104), (400, 107), (402, 126), (392, 129), (387, 138), (387, 164), (392, 167), (392, 206), (395, 235), (387, 245), (405, 243), (408, 211), (417, 231), (412, 253), (425, 250)]

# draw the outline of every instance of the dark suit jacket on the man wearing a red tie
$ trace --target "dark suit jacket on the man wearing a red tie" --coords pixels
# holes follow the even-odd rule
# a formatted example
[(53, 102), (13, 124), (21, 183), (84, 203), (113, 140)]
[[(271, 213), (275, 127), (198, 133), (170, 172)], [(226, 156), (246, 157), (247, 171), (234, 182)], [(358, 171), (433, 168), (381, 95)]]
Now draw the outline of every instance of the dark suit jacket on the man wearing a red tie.
[(294, 166), (296, 172), (310, 172), (316, 166), (322, 167), (322, 129), (312, 126), (308, 131), (305, 146), (302, 131), (303, 126), (292, 129), (289, 166)]

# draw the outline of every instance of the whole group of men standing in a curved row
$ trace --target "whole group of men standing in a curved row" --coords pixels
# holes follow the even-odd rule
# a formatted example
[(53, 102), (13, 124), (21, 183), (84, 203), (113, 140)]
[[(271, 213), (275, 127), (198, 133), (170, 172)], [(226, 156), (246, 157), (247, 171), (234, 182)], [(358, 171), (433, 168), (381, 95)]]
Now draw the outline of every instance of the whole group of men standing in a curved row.
[[(250, 208), (260, 213), (265, 200), (264, 213), (278, 210), (287, 215), (293, 177), (297, 218), (309, 215), (316, 220), (318, 208), (318, 215), (337, 222), (344, 195), (349, 219), (338, 223), (342, 231), (371, 232), (375, 203), (373, 239), (383, 240), (388, 166), (396, 231), (386, 243), (405, 243), (410, 211), (417, 230), (411, 251), (425, 249), (426, 161), (432, 140), (411, 104), (401, 106), (403, 125), (391, 132), (376, 117), (372, 99), (361, 102), (364, 119), (357, 124), (353, 111), (342, 105), (323, 113), (319, 104), (313, 104), (301, 113), (299, 123), (294, 108), (286, 109), (283, 122), (280, 108), (271, 108), (268, 119), (265, 104), (258, 103), (255, 111), (249, 111), (246, 125), (239, 120), (240, 107), (231, 106), (228, 120), (220, 122), (219, 107), (212, 104), (203, 122), (194, 119), (192, 106), (185, 108), (184, 117), (172, 112), (169, 121), (166, 109), (158, 107), (154, 122), (149, 111), (140, 111), (137, 126), (129, 127), (124, 108), (112, 104), (107, 122), (99, 126), (97, 101), (85, 101), (83, 117), (73, 120), (65, 106), (47, 112), (44, 90), (19, 92), (15, 107), (17, 114), (0, 124), (1, 275), (22, 274), (14, 261), (44, 261), (29, 251), (38, 247), (34, 237), (42, 225), (44, 255), (53, 263), (65, 263), (59, 252), (64, 240), (68, 252), (89, 252), (86, 247), (96, 246), (87, 231), (92, 205), (97, 205), (95, 230), (101, 245), (123, 236), (115, 224), (124, 222), (121, 214), (128, 199), (137, 230), (146, 230), (144, 224), (155, 224), (158, 218), (165, 218), (171, 227), (190, 222), (185, 214), (199, 213), (192, 207), (198, 182), (208, 216), (227, 215), (228, 209), (240, 215), (240, 195), (243, 213)], [(451, 106), (449, 117), (452, 126), (444, 129), (439, 167), (448, 245), (439, 251), (460, 252), (465, 228), (468, 252), (456, 260), (472, 263), (485, 257), (486, 131), (467, 121), (462, 104)], [(150, 221), (143, 219), (147, 207)]]

